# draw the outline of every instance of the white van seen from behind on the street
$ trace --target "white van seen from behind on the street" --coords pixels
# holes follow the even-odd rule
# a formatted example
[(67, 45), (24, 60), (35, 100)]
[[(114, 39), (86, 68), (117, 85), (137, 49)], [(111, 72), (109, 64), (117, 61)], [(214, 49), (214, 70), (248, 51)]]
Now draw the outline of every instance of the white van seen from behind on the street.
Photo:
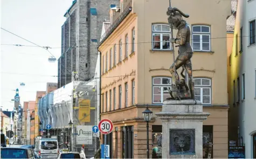
[(59, 154), (58, 140), (50, 138), (37, 138), (34, 150), (42, 158), (57, 158)]

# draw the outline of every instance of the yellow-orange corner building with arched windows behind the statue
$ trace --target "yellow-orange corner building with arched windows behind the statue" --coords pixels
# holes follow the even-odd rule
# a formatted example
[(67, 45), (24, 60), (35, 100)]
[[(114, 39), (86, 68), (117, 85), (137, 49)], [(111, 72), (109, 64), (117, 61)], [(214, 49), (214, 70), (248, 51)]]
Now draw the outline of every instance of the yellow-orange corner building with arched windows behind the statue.
[[(153, 111), (150, 155), (151, 149), (159, 147), (162, 123), (155, 113), (161, 112), (172, 83), (168, 6), (167, 0), (121, 0), (110, 6), (110, 24), (98, 50), (102, 74), (100, 117), (114, 124), (113, 132), (107, 135), (113, 158), (146, 158), (146, 122), (142, 115), (146, 105)], [(204, 155), (227, 158), (226, 17), (231, 15), (231, 1), (172, 0), (172, 6), (190, 15), (184, 19), (194, 39), (191, 45), (196, 99), (202, 101), (204, 112), (211, 114), (203, 122), (203, 136), (209, 141), (203, 151), (210, 147)], [(154, 155), (159, 154), (150, 157)]]

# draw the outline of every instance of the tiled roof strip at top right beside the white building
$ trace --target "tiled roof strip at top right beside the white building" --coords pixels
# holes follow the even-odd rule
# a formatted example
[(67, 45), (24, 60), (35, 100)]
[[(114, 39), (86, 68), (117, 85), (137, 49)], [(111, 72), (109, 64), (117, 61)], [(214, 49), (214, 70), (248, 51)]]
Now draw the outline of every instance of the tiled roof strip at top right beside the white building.
[(237, 15), (237, 1), (231, 0), (231, 15), (227, 18), (227, 32), (234, 32), (234, 25), (236, 24), (236, 15)]

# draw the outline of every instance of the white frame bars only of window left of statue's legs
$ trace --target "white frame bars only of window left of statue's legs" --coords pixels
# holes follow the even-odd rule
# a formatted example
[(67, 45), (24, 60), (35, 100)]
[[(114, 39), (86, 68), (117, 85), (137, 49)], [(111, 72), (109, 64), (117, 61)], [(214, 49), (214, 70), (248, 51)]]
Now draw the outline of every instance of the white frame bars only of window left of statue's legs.
[[(155, 78), (161, 78), (161, 83), (160, 84), (155, 84), (154, 83), (154, 79)], [(162, 84), (162, 81), (163, 81), (163, 78), (169, 78), (170, 79), (170, 84)], [(153, 77), (153, 79), (152, 79), (152, 83), (153, 83), (153, 86), (152, 86), (152, 103), (154, 103), (154, 104), (162, 104), (163, 103), (163, 93), (164, 93), (164, 91), (163, 91), (163, 88), (164, 87), (168, 87), (169, 89), (171, 89), (171, 84), (172, 84), (172, 78), (171, 77), (163, 77), (163, 76), (160, 76), (160, 77)], [(154, 102), (154, 88), (161, 88), (161, 102)], [(169, 91), (168, 91), (168, 93), (169, 93)]]

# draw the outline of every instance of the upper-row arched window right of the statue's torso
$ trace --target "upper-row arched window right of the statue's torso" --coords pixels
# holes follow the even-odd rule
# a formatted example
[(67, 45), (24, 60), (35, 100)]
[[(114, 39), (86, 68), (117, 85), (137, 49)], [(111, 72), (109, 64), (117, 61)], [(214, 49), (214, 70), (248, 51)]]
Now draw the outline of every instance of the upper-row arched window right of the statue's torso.
[(192, 48), (196, 51), (211, 50), (211, 28), (206, 25), (192, 25)]

